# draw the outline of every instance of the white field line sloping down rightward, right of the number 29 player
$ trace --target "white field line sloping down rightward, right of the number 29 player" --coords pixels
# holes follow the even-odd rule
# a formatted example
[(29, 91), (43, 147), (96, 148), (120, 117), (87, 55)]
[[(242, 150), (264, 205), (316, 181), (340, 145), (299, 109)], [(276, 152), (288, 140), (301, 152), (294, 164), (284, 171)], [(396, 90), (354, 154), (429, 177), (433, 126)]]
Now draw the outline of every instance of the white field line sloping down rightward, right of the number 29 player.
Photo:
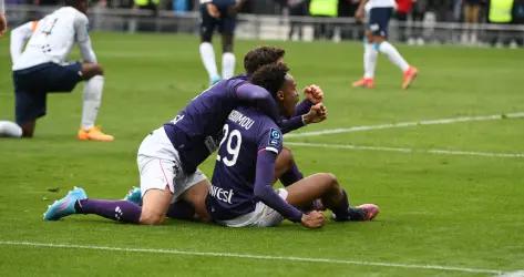
[(474, 151), (452, 151), (452, 150), (414, 150), (403, 147), (384, 147), (384, 146), (361, 146), (353, 144), (327, 144), (327, 143), (307, 143), (307, 142), (286, 142), (286, 145), (318, 147), (318, 148), (336, 148), (336, 150), (360, 150), (360, 151), (384, 151), (399, 153), (429, 153), (436, 155), (462, 155), (462, 156), (484, 156), (484, 157), (514, 157), (523, 158), (524, 153), (492, 153), (492, 152), (474, 152)]

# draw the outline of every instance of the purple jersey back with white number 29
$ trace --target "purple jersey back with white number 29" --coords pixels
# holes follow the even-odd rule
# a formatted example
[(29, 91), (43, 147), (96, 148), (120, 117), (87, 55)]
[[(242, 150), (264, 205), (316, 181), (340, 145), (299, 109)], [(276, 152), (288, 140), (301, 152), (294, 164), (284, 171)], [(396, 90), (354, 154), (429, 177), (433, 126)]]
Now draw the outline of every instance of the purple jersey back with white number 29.
[(269, 116), (245, 106), (232, 111), (223, 131), (207, 205), (214, 219), (227, 220), (254, 211), (258, 152), (278, 154), (281, 133)]

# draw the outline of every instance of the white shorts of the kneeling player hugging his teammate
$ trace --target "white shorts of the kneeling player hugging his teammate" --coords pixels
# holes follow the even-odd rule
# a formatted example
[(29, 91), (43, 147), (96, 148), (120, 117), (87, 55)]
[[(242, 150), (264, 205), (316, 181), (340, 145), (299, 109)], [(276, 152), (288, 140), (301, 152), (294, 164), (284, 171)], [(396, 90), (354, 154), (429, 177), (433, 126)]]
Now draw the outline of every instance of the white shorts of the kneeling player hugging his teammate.
[(184, 192), (206, 178), (199, 170), (189, 175), (184, 173), (178, 152), (167, 138), (164, 127), (153, 131), (142, 141), (136, 160), (142, 197), (148, 189), (163, 191), (168, 187), (173, 194), (171, 203), (174, 203)]

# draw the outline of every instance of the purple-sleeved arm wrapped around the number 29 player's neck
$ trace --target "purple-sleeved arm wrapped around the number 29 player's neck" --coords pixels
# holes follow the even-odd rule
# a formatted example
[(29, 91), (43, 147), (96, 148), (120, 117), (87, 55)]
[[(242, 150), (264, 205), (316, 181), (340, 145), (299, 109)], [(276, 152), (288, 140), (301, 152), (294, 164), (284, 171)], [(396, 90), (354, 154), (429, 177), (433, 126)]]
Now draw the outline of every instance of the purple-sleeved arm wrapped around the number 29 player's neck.
[(246, 82), (236, 88), (236, 96), (240, 102), (258, 107), (275, 122), (279, 120), (277, 102), (266, 89)]

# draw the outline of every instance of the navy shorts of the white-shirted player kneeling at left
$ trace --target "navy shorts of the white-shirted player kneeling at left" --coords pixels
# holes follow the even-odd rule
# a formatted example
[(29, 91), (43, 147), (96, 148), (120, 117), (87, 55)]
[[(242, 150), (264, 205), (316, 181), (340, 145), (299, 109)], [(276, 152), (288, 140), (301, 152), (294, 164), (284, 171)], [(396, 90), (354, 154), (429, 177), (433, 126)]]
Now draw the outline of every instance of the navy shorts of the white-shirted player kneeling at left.
[(80, 62), (60, 65), (48, 62), (13, 71), (16, 121), (21, 125), (45, 115), (50, 92), (71, 92), (82, 81)]

